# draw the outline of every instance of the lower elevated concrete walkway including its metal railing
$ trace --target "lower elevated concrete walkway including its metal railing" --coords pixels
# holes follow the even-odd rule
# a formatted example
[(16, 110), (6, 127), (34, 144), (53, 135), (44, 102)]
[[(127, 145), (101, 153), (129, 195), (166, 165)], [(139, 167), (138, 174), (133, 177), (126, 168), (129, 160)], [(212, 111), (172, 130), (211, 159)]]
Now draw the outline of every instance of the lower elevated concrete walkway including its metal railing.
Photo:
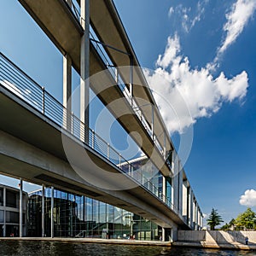
[[(160, 199), (157, 189), (147, 189), (149, 181), (137, 177), (136, 172), (122, 172), (119, 168), (122, 165), (116, 164), (117, 159), (113, 156), (116, 154), (119, 159), (119, 154), (113, 148), (108, 148), (107, 153), (96, 150), (91, 140), (91, 136), (96, 137), (96, 134), (89, 130), (90, 142), (85, 144), (79, 140), (76, 129), (72, 132), (63, 131), (61, 126), (67, 112), (65, 108), (3, 55), (1, 58), (1, 172), (22, 177), (32, 183), (54, 185), (59, 189), (90, 195), (99, 201), (135, 212), (163, 227), (172, 227), (175, 223), (183, 229), (189, 229), (172, 205), (165, 198)], [(73, 122), (79, 121), (73, 116)], [(72, 126), (80, 125), (79, 122)], [(102, 182), (103, 187), (107, 184), (108, 187), (116, 189), (124, 183), (133, 189), (101, 189), (79, 177), (67, 161), (62, 147), (61, 131), (69, 140), (75, 155), (81, 148), (88, 154), (88, 159), (77, 154), (76, 165), (81, 172), (94, 175), (97, 181)], [(97, 137), (97, 142), (105, 143), (100, 137)], [(108, 152), (111, 153), (110, 158)], [(97, 166), (90, 165), (90, 160), (97, 163)], [(121, 162), (124, 161), (121, 158)], [(102, 169), (106, 172), (102, 173)], [(111, 172), (122, 174), (122, 179), (109, 178), (108, 173)]]

